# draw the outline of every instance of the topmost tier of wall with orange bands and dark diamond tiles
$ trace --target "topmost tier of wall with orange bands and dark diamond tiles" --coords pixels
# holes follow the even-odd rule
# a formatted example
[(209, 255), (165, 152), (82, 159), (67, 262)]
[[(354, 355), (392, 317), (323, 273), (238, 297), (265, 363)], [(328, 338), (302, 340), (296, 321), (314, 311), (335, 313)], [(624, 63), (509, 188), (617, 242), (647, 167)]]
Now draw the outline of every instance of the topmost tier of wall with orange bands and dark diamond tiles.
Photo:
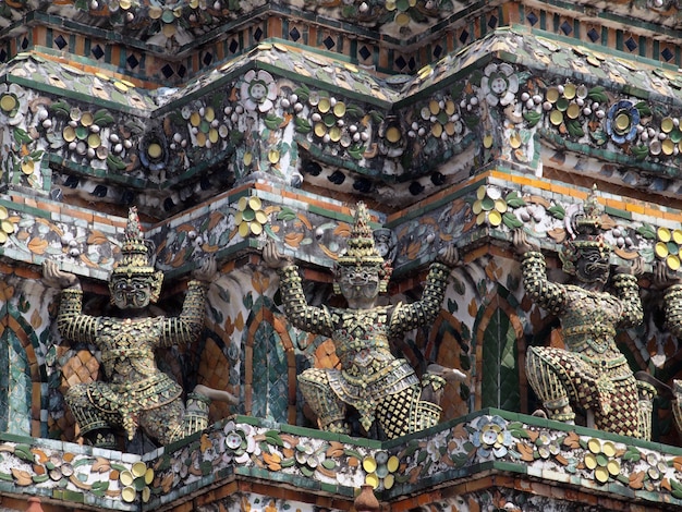
[[(636, 2), (633, 5), (619, 2), (607, 9), (607, 12), (611, 11), (607, 14), (609, 23), (602, 23), (589, 10), (573, 5), (567, 7), (568, 12), (579, 11), (574, 16), (555, 15), (556, 7), (549, 3), (528, 8), (517, 2), (500, 2), (506, 3), (503, 8), (491, 4), (477, 20), (471, 13), (482, 8), (484, 2), (466, 5), (464, 2), (437, 3), (423, 0), (360, 1), (349, 3), (343, 9), (333, 3), (307, 2), (302, 10), (300, 5), (284, 7), (265, 2), (241, 2), (230, 7), (199, 1), (179, 2), (172, 7), (147, 2), (130, 2), (127, 5), (124, 2), (126, 9), (117, 7), (109, 12), (103, 1), (95, 2), (95, 8), (87, 2), (70, 3), (63, 2), (60, 8), (48, 11), (50, 16), (63, 16), (60, 28), (39, 28), (31, 36), (19, 36), (11, 42), (11, 48), (0, 50), (0, 62), (10, 60), (17, 52), (42, 47), (118, 66), (141, 80), (182, 84), (196, 73), (218, 65), (226, 58), (247, 51), (267, 38), (277, 37), (346, 56), (353, 62), (372, 65), (382, 73), (415, 73), (496, 28), (516, 24), (678, 66), (682, 58), (679, 45), (669, 38), (661, 40), (651, 37), (638, 24), (632, 23), (631, 16), (634, 15), (642, 19), (642, 27), (645, 27), (646, 23), (662, 15), (670, 28), (661, 26), (659, 33), (674, 37), (674, 20), (680, 15), (672, 2), (662, 1), (660, 5), (649, 2), (650, 10)], [(20, 13), (24, 11), (28, 13), (31, 23), (52, 20), (41, 8), (33, 10), (35, 5), (32, 4), (17, 2), (15, 7), (10, 7), (4, 3), (2, 20), (5, 23), (19, 20)], [(586, 16), (586, 13), (592, 15)], [(265, 14), (264, 21), (249, 24), (254, 14)], [(334, 17), (348, 24), (348, 29), (340, 29)], [(126, 46), (113, 42), (117, 40), (117, 31), (131, 36), (126, 39)], [(362, 34), (360, 45), (349, 31)], [(205, 45), (224, 32), (231, 34), (228, 39)], [(108, 42), (101, 39), (102, 35), (109, 38)], [(383, 44), (377, 35), (380, 35)], [(422, 40), (425, 38), (433, 41), (424, 45)], [(363, 39), (367, 44), (363, 45)], [(404, 47), (404, 50), (395, 53), (393, 49), (383, 46), (386, 42)], [(194, 52), (198, 45), (203, 47), (200, 52), (180, 62), (163, 57), (167, 51), (178, 54)], [(147, 50), (150, 52), (146, 53)]]

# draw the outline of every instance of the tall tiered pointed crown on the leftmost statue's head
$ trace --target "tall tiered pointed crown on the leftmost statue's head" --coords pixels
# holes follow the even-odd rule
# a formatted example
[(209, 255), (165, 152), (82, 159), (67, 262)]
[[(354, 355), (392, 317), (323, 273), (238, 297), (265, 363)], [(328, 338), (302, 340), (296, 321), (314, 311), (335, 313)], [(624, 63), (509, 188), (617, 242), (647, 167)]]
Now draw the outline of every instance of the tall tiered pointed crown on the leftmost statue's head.
[(161, 290), (163, 273), (154, 268), (154, 243), (144, 239), (137, 208), (131, 207), (125, 224), (125, 240), (121, 246), (122, 258), (114, 265), (109, 285), (117, 278), (142, 277), (149, 280), (151, 302), (156, 302)]

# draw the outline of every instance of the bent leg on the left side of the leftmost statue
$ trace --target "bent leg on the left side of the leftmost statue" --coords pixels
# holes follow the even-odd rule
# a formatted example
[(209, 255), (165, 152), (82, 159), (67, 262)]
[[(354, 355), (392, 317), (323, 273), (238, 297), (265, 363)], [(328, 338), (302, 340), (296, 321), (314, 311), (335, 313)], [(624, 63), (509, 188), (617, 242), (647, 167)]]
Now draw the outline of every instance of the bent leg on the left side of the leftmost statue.
[(95, 407), (88, 395), (88, 385), (81, 383), (69, 388), (64, 400), (78, 424), (81, 436), (90, 444), (99, 448), (115, 448), (113, 428), (121, 424), (121, 418)]

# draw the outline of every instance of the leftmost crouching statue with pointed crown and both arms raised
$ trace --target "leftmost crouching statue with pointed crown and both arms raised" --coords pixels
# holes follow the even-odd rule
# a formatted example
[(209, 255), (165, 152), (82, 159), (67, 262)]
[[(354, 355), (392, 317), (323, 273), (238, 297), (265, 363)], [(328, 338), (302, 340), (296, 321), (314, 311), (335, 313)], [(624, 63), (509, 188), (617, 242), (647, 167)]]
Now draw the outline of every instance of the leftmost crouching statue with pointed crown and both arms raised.
[(208, 426), (210, 398), (235, 402), (224, 392), (197, 386), (187, 400), (182, 388), (158, 369), (154, 351), (194, 341), (204, 325), (206, 292), (215, 273), (215, 261), (188, 283), (180, 316), (141, 316), (149, 302), (158, 300), (163, 275), (149, 265), (150, 247), (142, 239), (137, 212), (131, 209), (123, 244), (123, 259), (113, 269), (109, 288), (112, 302), (124, 318), (96, 317), (82, 313), (83, 292), (75, 276), (61, 272), (47, 261), (46, 280), (66, 284), (62, 291), (57, 324), (71, 342), (93, 343), (101, 351), (106, 381), (75, 385), (65, 400), (81, 435), (97, 446), (114, 444), (113, 428), (133, 439), (137, 428), (161, 444), (181, 439)]

